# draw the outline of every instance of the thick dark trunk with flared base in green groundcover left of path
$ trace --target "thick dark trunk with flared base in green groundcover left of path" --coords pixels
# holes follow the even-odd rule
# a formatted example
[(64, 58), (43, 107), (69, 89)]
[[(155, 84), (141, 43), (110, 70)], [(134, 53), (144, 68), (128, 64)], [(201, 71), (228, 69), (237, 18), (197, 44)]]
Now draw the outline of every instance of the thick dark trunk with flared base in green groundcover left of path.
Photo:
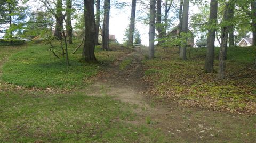
[(97, 62), (94, 55), (96, 24), (94, 18), (94, 0), (84, 0), (84, 21), (85, 21), (85, 41), (82, 57), (86, 62)]

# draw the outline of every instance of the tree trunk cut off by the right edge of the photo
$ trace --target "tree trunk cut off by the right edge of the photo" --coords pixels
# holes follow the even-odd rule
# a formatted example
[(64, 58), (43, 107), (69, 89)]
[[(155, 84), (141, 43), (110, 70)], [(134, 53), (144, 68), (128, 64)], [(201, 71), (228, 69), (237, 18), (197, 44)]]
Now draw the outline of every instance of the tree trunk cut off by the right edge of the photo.
[(256, 0), (251, 2), (252, 10), (252, 45), (256, 46)]

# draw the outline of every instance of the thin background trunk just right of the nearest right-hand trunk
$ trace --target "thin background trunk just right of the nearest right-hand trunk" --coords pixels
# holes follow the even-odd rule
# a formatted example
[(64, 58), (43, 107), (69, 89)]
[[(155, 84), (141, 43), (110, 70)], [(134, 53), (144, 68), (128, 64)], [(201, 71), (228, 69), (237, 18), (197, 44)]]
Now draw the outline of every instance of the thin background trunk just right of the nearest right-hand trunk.
[(229, 21), (232, 23), (230, 26), (228, 26), (228, 44), (229, 47), (234, 47), (234, 24), (233, 24), (233, 19), (234, 19), (234, 9), (235, 9), (235, 1), (229, 1), (229, 7), (227, 10), (228, 18), (230, 19)]

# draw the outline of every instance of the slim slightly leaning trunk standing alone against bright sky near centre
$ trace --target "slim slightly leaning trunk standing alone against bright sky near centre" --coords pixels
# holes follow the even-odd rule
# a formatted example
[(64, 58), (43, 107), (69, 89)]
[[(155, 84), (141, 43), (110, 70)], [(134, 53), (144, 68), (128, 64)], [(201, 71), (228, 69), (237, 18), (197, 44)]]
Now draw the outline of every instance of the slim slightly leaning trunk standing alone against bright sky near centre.
[(135, 12), (136, 12), (136, 0), (132, 0), (132, 11), (130, 18), (130, 28), (129, 28), (129, 38), (128, 38), (128, 46), (133, 45), (133, 33), (135, 27)]

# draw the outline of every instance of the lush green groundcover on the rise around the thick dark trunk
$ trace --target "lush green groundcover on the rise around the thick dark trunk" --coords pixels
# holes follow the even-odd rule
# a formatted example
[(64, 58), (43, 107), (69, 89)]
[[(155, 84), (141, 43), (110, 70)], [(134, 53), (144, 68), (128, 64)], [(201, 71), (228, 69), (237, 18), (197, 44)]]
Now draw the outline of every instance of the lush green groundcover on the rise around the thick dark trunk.
[[(75, 47), (76, 44), (70, 45), (69, 53)], [(7, 83), (24, 87), (82, 88), (91, 82), (89, 78), (96, 75), (101, 70), (101, 66), (125, 53), (120, 50), (103, 52), (100, 46), (95, 51), (100, 64), (79, 62), (81, 47), (76, 54), (69, 55), (70, 66), (67, 67), (65, 58), (61, 55), (59, 55), (60, 59), (54, 57), (49, 51), (49, 45), (30, 45), (9, 58), (9, 61), (3, 65), (1, 78)]]

